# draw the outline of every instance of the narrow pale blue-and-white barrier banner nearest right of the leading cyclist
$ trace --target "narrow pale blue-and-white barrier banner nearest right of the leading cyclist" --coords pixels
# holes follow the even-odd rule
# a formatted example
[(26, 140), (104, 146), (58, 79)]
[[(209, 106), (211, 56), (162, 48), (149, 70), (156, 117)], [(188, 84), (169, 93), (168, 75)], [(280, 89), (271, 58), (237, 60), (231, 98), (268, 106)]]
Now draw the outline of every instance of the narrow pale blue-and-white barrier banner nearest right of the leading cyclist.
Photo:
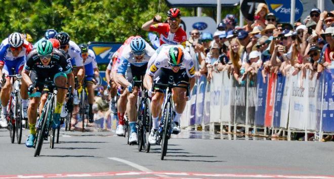
[(197, 80), (197, 98), (195, 124), (200, 125), (204, 117), (204, 98), (205, 98), (206, 76), (201, 75)]

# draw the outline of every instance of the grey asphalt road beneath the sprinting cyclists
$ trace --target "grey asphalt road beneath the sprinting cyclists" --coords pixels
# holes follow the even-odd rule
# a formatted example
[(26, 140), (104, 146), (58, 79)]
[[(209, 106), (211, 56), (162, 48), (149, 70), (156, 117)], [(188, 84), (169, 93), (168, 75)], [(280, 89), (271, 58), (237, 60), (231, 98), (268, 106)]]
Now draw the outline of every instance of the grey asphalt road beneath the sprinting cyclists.
[(160, 146), (138, 152), (111, 131), (61, 131), (33, 157), (0, 129), (0, 178), (334, 178), (333, 142), (190, 139), (201, 135), (183, 130), (161, 161)]

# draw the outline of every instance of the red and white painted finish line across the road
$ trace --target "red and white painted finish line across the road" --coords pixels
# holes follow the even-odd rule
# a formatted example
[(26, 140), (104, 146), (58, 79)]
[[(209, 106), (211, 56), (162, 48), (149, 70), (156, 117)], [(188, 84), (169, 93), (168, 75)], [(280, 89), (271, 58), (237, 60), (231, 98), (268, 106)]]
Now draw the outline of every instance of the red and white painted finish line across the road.
[[(0, 175), (0, 179), (7, 178), (65, 178), (65, 177), (97, 177), (97, 176), (120, 176), (130, 177), (139, 175), (169, 175), (176, 177), (158, 177), (158, 178), (187, 178), (194, 177), (245, 177), (245, 178), (320, 178), (334, 179), (334, 175), (281, 175), (281, 174), (232, 174), (232, 173), (193, 173), (193, 172), (173, 172), (173, 171), (113, 171), (98, 173), (62, 173), (62, 174), (22, 174), (22, 175)], [(148, 177), (143, 177), (148, 178)], [(157, 178), (157, 177), (149, 177)]]

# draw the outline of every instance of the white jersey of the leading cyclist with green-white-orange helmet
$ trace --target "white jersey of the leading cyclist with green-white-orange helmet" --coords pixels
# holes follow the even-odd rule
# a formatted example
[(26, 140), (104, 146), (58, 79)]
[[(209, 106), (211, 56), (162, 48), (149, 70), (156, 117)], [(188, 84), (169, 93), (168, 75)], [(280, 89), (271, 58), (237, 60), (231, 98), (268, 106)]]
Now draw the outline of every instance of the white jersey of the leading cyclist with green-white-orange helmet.
[[(154, 75), (154, 73), (160, 69), (160, 68), (166, 68), (166, 69), (172, 69), (171, 66), (169, 65), (169, 59), (168, 59), (168, 53), (170, 48), (173, 46), (169, 46), (168, 48), (162, 48), (161, 52), (157, 55), (156, 59), (154, 60), (153, 64), (149, 67), (149, 70), (147, 70), (147, 73), (151, 76)], [(193, 59), (191, 58), (190, 54), (185, 51), (184, 49), (182, 50), (184, 53), (184, 59), (181, 64), (182, 69), (186, 69), (186, 74), (189, 78), (194, 77), (195, 74), (195, 67), (194, 67), (194, 62)]]

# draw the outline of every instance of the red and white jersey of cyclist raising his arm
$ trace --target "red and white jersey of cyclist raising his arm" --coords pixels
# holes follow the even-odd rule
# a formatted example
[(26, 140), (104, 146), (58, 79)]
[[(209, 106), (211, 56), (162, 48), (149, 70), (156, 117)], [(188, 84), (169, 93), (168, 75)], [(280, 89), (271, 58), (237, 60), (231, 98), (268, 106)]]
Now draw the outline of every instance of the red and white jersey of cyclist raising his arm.
[(158, 32), (160, 36), (160, 46), (164, 43), (185, 46), (187, 33), (180, 27), (175, 33), (171, 33), (168, 23), (158, 23), (150, 26), (150, 31)]

